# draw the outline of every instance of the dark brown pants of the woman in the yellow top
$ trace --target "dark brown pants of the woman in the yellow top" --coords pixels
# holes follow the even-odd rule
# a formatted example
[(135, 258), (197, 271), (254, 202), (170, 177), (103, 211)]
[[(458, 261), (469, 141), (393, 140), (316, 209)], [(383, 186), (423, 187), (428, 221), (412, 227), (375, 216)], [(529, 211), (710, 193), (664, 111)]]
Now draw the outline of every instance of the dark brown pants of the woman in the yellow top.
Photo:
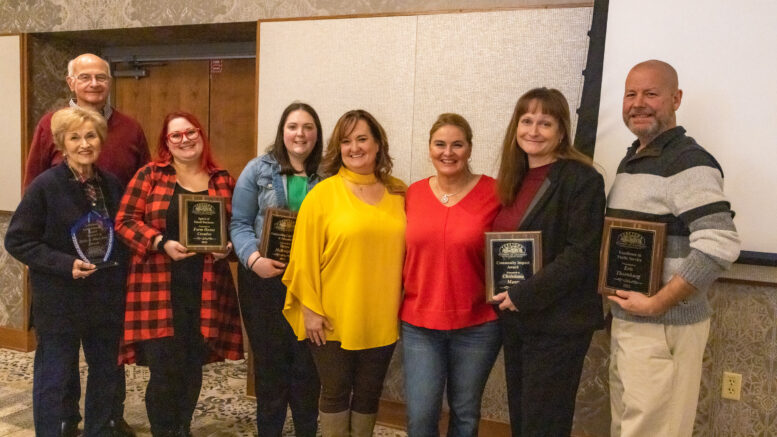
[(396, 343), (362, 350), (345, 350), (339, 341), (308, 343), (321, 378), (320, 406), (324, 413), (378, 412), (383, 379)]

